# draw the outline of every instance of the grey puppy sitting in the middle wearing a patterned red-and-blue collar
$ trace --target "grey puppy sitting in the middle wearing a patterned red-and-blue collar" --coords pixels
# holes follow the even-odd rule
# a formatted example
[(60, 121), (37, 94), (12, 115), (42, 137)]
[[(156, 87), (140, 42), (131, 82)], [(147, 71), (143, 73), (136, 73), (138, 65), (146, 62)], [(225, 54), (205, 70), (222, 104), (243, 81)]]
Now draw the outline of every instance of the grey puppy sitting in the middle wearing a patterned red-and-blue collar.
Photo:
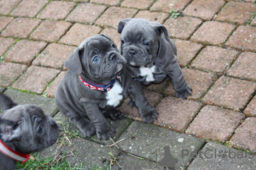
[(125, 70), (125, 63), (113, 40), (102, 34), (84, 40), (65, 61), (68, 71), (57, 88), (55, 102), (84, 136), (96, 133), (99, 139), (112, 138), (114, 129), (105, 117), (124, 118), (114, 108), (126, 96), (137, 106), (144, 122), (156, 119), (158, 112)]

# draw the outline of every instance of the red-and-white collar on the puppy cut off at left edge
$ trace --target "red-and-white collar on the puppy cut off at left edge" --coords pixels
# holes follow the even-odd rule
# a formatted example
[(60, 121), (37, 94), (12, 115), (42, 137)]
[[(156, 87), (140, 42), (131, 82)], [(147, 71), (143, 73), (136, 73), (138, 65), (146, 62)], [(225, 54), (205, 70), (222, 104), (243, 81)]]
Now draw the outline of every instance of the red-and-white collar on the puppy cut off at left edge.
[(15, 161), (21, 161), (21, 163), (25, 163), (29, 159), (29, 154), (22, 154), (15, 150), (9, 148), (3, 141), (0, 139), (0, 152), (3, 153), (4, 156), (8, 156), (9, 158)]

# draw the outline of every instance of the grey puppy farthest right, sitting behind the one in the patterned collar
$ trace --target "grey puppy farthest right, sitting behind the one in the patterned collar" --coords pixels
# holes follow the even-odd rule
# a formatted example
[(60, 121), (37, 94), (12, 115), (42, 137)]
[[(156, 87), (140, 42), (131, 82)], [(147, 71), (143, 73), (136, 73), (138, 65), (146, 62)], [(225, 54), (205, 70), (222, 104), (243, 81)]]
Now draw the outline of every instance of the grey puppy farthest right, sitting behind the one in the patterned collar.
[(165, 26), (144, 19), (124, 19), (119, 21), (118, 32), (121, 54), (137, 82), (148, 85), (170, 77), (176, 96), (187, 99), (192, 88), (183, 78), (177, 64), (177, 48)]

